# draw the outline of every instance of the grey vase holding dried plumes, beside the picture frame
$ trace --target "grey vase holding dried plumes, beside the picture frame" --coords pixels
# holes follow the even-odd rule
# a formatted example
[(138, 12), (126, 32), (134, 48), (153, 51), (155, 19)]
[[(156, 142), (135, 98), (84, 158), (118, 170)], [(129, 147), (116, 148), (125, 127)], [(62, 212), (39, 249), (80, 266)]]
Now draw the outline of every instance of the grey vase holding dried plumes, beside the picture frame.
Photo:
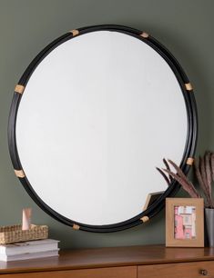
[(209, 247), (214, 247), (214, 209), (205, 208), (205, 227)]

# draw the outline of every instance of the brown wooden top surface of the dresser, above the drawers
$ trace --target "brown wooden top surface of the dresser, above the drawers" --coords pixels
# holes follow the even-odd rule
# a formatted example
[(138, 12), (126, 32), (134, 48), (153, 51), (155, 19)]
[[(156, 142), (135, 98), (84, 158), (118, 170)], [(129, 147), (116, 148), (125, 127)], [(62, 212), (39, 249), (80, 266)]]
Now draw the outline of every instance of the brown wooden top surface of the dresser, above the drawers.
[(157, 263), (214, 260), (214, 248), (166, 248), (164, 245), (61, 251), (59, 257), (0, 262), (0, 273), (31, 273)]

